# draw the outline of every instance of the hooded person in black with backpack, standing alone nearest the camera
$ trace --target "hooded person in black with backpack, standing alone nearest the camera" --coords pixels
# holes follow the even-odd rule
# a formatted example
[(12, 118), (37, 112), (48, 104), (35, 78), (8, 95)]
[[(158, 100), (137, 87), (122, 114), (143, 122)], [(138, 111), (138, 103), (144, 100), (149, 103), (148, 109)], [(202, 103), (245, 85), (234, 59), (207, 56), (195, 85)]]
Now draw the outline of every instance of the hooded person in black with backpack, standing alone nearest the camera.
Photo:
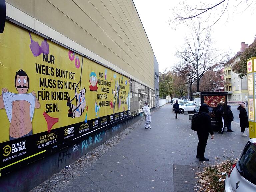
[(196, 158), (199, 158), (199, 161), (209, 161), (208, 158), (204, 157), (204, 152), (209, 137), (209, 133), (211, 134), (212, 139), (214, 138), (214, 135), (211, 128), (211, 118), (209, 115), (208, 106), (205, 103), (203, 103), (200, 106), (198, 113), (200, 114), (200, 127), (198, 127), (197, 131), (198, 145)]

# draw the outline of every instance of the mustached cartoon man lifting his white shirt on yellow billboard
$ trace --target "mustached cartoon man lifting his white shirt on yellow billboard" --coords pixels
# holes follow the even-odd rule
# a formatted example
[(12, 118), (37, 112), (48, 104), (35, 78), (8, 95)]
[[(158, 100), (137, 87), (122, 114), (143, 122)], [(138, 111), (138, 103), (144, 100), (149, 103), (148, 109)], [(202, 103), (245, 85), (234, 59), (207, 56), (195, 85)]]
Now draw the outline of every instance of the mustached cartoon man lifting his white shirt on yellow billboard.
[(0, 95), (0, 109), (5, 108), (10, 121), (10, 140), (33, 134), (34, 109), (40, 107), (35, 91), (27, 93), (29, 78), (25, 71), (20, 69), (16, 72), (14, 83), (18, 94), (9, 92), (7, 88), (2, 88)]

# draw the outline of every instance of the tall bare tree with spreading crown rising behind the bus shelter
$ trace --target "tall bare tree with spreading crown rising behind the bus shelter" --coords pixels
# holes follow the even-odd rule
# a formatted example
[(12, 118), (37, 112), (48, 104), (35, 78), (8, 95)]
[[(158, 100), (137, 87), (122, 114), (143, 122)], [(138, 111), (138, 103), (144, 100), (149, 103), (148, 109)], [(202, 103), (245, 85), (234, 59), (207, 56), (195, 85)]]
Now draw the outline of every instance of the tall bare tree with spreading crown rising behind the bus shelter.
[(176, 54), (184, 63), (191, 65), (188, 69), (191, 70), (191, 78), (197, 82), (197, 92), (200, 91), (200, 79), (204, 73), (223, 64), (228, 56), (223, 53), (218, 54), (217, 50), (212, 48), (210, 29), (201, 29), (200, 25), (200, 22), (198, 25), (193, 25), (190, 37), (185, 37), (185, 45)]

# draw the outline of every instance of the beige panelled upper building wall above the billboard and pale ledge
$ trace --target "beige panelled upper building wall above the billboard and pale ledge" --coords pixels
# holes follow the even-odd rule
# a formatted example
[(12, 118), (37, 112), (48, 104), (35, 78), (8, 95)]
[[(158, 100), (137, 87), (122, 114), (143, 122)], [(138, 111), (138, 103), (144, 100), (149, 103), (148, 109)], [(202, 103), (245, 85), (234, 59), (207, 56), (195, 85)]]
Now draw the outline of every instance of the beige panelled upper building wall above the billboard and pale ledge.
[(154, 54), (132, 0), (6, 0), (154, 89)]

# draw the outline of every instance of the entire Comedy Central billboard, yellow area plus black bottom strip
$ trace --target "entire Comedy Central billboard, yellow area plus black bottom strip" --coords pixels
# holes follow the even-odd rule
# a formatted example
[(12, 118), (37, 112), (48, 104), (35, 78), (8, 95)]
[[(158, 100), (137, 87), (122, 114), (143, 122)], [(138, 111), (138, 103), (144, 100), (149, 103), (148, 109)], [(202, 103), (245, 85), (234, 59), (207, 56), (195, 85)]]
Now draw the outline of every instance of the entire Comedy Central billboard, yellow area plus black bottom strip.
[(0, 68), (1, 174), (130, 116), (127, 77), (9, 22)]

